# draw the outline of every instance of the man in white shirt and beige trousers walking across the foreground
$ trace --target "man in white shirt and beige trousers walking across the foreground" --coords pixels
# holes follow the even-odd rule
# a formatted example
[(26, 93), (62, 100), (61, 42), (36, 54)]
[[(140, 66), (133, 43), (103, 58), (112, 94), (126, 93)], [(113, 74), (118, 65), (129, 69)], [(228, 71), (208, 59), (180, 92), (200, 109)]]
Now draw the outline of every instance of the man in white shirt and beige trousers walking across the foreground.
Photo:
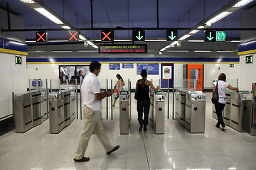
[(82, 128), (77, 151), (75, 152), (75, 162), (87, 162), (90, 160), (89, 157), (84, 157), (84, 155), (93, 132), (99, 137), (107, 154), (111, 154), (119, 149), (119, 145), (115, 147), (110, 145), (110, 141), (107, 139), (107, 135), (105, 134), (100, 120), (100, 100), (112, 95), (112, 92), (110, 91), (100, 92), (100, 82), (97, 79), (97, 76), (100, 74), (100, 69), (100, 62), (91, 62), (90, 73), (86, 75), (82, 83), (82, 110), (84, 113), (85, 124)]

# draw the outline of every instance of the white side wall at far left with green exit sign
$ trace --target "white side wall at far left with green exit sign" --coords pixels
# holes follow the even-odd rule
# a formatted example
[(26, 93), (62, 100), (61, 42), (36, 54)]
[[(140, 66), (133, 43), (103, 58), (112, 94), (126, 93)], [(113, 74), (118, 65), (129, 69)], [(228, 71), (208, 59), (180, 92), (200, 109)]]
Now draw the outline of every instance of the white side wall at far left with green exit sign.
[(12, 114), (12, 92), (26, 91), (26, 57), (15, 64), (15, 55), (0, 53), (0, 118)]

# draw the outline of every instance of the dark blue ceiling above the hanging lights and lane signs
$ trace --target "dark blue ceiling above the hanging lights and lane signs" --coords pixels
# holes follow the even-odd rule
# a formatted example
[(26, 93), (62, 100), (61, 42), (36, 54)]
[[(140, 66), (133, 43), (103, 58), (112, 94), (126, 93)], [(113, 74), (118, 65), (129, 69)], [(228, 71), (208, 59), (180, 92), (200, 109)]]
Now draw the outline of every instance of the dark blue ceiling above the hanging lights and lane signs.
[[(41, 0), (75, 28), (92, 28), (90, 0)], [(93, 28), (157, 28), (157, 0), (93, 0)], [(1, 8), (9, 3), (11, 12), (25, 20), (26, 29), (61, 28), (19, 0), (1, 0)], [(159, 28), (192, 28), (230, 0), (159, 0)], [(210, 28), (240, 28), (240, 15), (256, 5), (252, 1), (235, 13), (214, 23)], [(223, 21), (224, 20), (224, 21)], [(82, 30), (89, 40), (100, 40), (100, 30)], [(182, 35), (186, 30), (178, 30)], [(166, 39), (166, 30), (146, 30), (146, 40)], [(35, 31), (26, 31), (26, 40), (35, 40)], [(67, 30), (49, 31), (48, 40), (67, 40)], [(132, 30), (115, 30), (114, 39), (132, 39)], [(200, 31), (188, 40), (204, 40)], [(240, 30), (227, 30), (227, 40), (240, 40)], [(164, 47), (164, 45), (162, 46)], [(160, 49), (161, 47), (159, 47)]]

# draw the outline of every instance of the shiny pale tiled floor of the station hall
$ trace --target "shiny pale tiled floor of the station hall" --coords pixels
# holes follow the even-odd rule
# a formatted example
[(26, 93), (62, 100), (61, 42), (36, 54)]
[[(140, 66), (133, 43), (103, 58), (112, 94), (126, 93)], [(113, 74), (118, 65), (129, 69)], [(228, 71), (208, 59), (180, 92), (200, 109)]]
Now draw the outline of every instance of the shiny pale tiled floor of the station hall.
[[(86, 156), (89, 162), (73, 162), (82, 120), (58, 135), (49, 134), (49, 122), (18, 134), (15, 130), (0, 137), (1, 170), (95, 170), (95, 169), (256, 169), (256, 137), (227, 127), (215, 128), (210, 93), (206, 93), (206, 132), (190, 134), (177, 120), (166, 120), (165, 134), (155, 135), (152, 128), (139, 132), (135, 102), (129, 135), (119, 135), (118, 120), (103, 120), (117, 152), (105, 154), (100, 141), (92, 135)], [(118, 105), (114, 108), (118, 111)]]

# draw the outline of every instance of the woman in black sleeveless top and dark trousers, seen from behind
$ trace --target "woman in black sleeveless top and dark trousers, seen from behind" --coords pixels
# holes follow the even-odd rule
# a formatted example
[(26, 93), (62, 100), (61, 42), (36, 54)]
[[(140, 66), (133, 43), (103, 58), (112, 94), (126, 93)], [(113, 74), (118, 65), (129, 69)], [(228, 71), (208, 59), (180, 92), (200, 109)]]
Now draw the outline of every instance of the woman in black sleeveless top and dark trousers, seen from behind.
[[(137, 83), (136, 83), (136, 89), (139, 88), (138, 98), (137, 98), (137, 112), (138, 112), (139, 130), (142, 130), (142, 125), (144, 125), (144, 130), (147, 130), (146, 125), (149, 125), (149, 107), (150, 107), (149, 86), (154, 91), (160, 89), (160, 86), (154, 87), (152, 82), (146, 79), (147, 77), (146, 69), (142, 69), (141, 76), (142, 76), (142, 79), (137, 80)], [(144, 112), (144, 120), (142, 118), (143, 112)]]

